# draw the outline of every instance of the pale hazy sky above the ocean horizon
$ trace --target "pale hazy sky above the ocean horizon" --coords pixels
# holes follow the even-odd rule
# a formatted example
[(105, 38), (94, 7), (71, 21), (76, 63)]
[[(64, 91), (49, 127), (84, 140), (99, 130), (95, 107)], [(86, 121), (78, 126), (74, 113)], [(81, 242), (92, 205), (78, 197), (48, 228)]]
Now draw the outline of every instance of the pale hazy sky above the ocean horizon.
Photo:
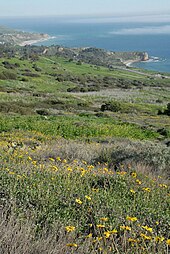
[(0, 17), (170, 13), (170, 0), (0, 0)]

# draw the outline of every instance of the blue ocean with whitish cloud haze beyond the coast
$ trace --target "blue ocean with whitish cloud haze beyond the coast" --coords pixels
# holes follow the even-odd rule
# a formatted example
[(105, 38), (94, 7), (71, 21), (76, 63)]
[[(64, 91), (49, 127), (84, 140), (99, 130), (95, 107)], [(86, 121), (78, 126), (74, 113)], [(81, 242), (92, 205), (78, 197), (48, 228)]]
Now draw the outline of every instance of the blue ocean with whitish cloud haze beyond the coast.
[(47, 33), (52, 39), (37, 45), (97, 47), (111, 51), (146, 51), (147, 62), (133, 66), (170, 73), (170, 23), (111, 22), (82, 19), (0, 18), (0, 25), (27, 32)]

